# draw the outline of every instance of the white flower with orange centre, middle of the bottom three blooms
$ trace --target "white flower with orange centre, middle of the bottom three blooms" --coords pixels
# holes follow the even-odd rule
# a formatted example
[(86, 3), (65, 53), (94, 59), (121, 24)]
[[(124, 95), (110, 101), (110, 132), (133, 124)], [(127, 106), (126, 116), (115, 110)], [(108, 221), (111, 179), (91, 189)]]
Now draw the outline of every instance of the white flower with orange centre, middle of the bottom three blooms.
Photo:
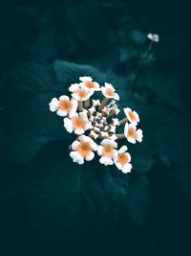
[(117, 156), (117, 142), (111, 139), (104, 139), (101, 141), (101, 145), (97, 148), (97, 154), (100, 155), (99, 162), (101, 164), (113, 165), (113, 159)]

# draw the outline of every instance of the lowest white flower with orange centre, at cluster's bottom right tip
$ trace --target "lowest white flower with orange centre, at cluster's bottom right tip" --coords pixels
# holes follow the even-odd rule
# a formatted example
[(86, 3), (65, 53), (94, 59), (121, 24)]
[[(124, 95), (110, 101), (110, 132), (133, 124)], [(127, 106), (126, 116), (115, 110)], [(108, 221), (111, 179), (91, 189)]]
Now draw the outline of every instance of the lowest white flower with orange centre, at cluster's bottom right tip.
[(122, 146), (120, 150), (117, 151), (117, 156), (114, 158), (117, 169), (121, 170), (124, 174), (130, 173), (132, 169), (132, 165), (130, 164), (131, 155), (126, 151), (127, 147)]

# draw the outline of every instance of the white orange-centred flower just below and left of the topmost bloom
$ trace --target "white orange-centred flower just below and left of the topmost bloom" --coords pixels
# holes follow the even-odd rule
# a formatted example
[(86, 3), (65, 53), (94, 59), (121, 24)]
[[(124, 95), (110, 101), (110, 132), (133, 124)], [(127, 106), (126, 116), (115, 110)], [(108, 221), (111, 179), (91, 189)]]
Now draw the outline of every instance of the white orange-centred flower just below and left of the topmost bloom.
[(93, 90), (89, 90), (87, 88), (82, 88), (79, 83), (74, 83), (69, 87), (69, 90), (72, 93), (72, 96), (75, 100), (84, 102), (88, 100), (93, 94)]

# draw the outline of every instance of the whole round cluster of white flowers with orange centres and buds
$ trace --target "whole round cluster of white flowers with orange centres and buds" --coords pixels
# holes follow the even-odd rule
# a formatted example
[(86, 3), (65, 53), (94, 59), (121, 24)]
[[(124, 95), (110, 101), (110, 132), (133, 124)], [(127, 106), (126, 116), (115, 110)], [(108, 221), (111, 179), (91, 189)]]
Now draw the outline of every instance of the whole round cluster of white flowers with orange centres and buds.
[[(127, 139), (130, 143), (142, 141), (142, 130), (137, 129), (139, 117), (136, 111), (129, 107), (123, 109), (125, 117), (117, 119), (119, 96), (111, 83), (100, 86), (91, 77), (80, 77), (78, 83), (69, 87), (72, 97), (62, 95), (53, 98), (50, 110), (64, 117), (66, 130), (76, 134), (71, 145), (70, 156), (73, 161), (83, 164), (91, 161), (95, 152), (99, 162), (105, 166), (115, 164), (124, 174), (131, 172), (131, 155), (127, 147), (117, 150), (117, 139)], [(91, 100), (97, 93), (102, 93), (103, 100)], [(117, 128), (124, 125), (124, 132), (117, 133)]]

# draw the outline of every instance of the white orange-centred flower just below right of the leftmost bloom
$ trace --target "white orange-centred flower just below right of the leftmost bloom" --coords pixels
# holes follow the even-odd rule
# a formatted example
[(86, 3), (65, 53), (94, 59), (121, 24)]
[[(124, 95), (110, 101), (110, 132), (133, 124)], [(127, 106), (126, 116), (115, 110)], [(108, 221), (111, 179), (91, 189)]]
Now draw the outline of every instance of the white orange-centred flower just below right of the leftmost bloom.
[(70, 118), (64, 118), (64, 127), (68, 132), (74, 131), (78, 135), (83, 134), (87, 129), (93, 128), (85, 112), (74, 113)]

